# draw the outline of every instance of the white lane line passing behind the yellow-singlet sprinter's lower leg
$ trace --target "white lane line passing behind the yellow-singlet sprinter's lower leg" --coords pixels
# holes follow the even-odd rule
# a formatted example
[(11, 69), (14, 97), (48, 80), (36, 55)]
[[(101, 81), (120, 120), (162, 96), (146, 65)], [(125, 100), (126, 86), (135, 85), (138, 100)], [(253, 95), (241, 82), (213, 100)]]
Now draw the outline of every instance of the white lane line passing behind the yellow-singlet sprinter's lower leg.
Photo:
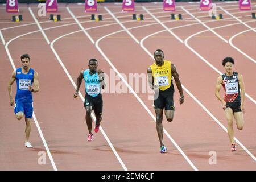
[[(110, 12), (111, 13), (111, 12)], [(115, 19), (116, 20), (116, 19)], [(118, 22), (118, 21), (117, 21)], [(119, 22), (120, 23), (120, 22)], [(127, 30), (126, 27), (121, 26), (123, 28), (123, 31), (129, 31)], [(120, 32), (120, 31), (117, 31)], [(137, 95), (137, 93), (135, 93), (135, 91), (133, 90), (133, 88), (131, 88), (131, 86), (128, 84), (128, 82), (125, 80), (125, 78), (123, 78), (123, 76), (121, 75), (121, 73), (117, 70), (117, 68), (115, 68), (115, 66), (113, 65), (113, 63), (110, 61), (110, 59), (105, 55), (105, 53), (102, 51), (102, 49), (98, 46), (98, 44), (100, 43), (100, 41), (104, 38), (106, 38), (107, 36), (116, 34), (117, 32), (113, 32), (111, 34), (102, 36), (100, 39), (98, 39), (96, 41), (96, 48), (98, 49), (98, 51), (101, 53), (101, 55), (105, 58), (105, 60), (109, 63), (109, 65), (114, 69), (115, 73), (117, 73), (117, 75), (119, 76), (119, 78), (121, 78), (121, 80), (125, 83), (125, 85), (127, 86), (127, 88), (129, 88), (129, 90), (131, 91), (131, 93), (134, 94), (135, 98), (137, 98), (137, 100), (141, 103), (141, 105), (144, 107), (144, 109), (148, 112), (148, 114), (150, 114), (150, 116), (154, 119), (154, 121), (156, 122), (156, 118), (155, 115), (151, 113), (150, 109), (148, 109), (148, 107), (144, 104), (144, 102), (141, 100), (141, 98), (139, 98), (139, 96)], [(130, 32), (130, 31), (129, 31)], [(131, 33), (129, 33), (130, 35)], [(131, 36), (133, 37), (133, 36)], [(139, 43), (138, 43), (139, 44)], [(181, 148), (178, 146), (178, 144), (175, 142), (175, 140), (171, 137), (170, 134), (168, 134), (168, 132), (164, 129), (164, 134), (167, 135), (167, 137), (171, 140), (171, 142), (175, 145), (175, 147), (177, 148), (177, 150), (179, 150), (179, 152), (181, 153), (181, 155), (183, 155), (183, 157), (187, 160), (187, 162), (191, 165), (191, 167), (195, 170), (198, 171), (198, 169), (195, 167), (195, 165), (191, 162), (191, 160), (187, 157), (187, 155), (185, 155), (185, 153), (183, 152), (183, 150), (181, 150)]]

